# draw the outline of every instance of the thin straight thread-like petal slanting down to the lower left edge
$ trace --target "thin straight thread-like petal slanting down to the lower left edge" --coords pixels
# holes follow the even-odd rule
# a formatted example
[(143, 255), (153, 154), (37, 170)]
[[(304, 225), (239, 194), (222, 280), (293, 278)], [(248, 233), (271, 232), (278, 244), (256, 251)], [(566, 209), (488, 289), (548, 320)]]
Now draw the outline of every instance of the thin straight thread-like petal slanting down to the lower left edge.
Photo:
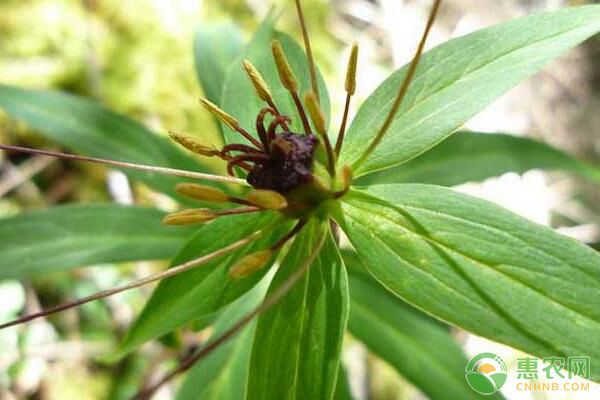
[(29, 322), (29, 321), (37, 319), (37, 318), (47, 317), (51, 314), (55, 314), (60, 311), (68, 310), (70, 308), (77, 307), (82, 304), (86, 304), (91, 301), (94, 301), (94, 300), (99, 300), (99, 299), (102, 299), (105, 297), (109, 297), (109, 296), (124, 292), (129, 289), (134, 289), (134, 288), (137, 288), (137, 287), (140, 287), (143, 285), (147, 285), (148, 283), (159, 281), (161, 279), (170, 278), (172, 276), (178, 275), (178, 274), (185, 272), (187, 270), (190, 270), (192, 268), (199, 267), (203, 264), (206, 264), (206, 263), (208, 263), (218, 257), (221, 257), (225, 254), (228, 254), (234, 250), (242, 248), (242, 247), (246, 246), (248, 243), (251, 243), (251, 242), (255, 241), (256, 239), (258, 239), (259, 237), (261, 237), (262, 235), (264, 235), (264, 233), (265, 233), (265, 230), (256, 231), (256, 232), (250, 234), (249, 236), (247, 236), (246, 238), (238, 240), (237, 242), (232, 243), (229, 246), (225, 246), (222, 249), (219, 249), (217, 251), (206, 254), (204, 256), (195, 258), (186, 263), (179, 264), (173, 268), (169, 268), (166, 271), (158, 272), (156, 274), (152, 274), (150, 276), (147, 276), (147, 277), (139, 279), (137, 281), (128, 283), (123, 286), (115, 287), (115, 288), (108, 289), (108, 290), (102, 290), (102, 291), (92, 294), (90, 296), (83, 297), (79, 300), (76, 300), (76, 301), (73, 301), (70, 303), (66, 303), (66, 304), (61, 304), (61, 305), (58, 305), (55, 307), (51, 307), (51, 308), (45, 309), (43, 311), (40, 311), (40, 312), (37, 312), (34, 314), (29, 314), (24, 317), (15, 319), (13, 321), (6, 322), (4, 324), (0, 324), (0, 330), (14, 326), (14, 325), (19, 325), (19, 324), (22, 324), (25, 322)]

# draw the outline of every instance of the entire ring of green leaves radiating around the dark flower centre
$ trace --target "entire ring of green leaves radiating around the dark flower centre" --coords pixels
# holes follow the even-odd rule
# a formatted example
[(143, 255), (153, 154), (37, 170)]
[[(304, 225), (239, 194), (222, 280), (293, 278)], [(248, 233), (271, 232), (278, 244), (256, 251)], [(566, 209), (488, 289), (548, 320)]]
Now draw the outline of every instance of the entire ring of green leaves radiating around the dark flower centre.
[[(301, 46), (274, 24), (269, 15), (244, 49), (230, 25), (203, 27), (196, 36), (198, 75), (211, 71), (215, 77), (200, 79), (205, 94), (242, 126), (252, 127), (254, 135), (262, 105), (239, 66), (242, 56), (265, 76), (275, 102), (292, 116), (291, 127), (298, 132), (299, 115), (278, 84), (270, 55), (273, 39), (281, 41), (300, 92), (310, 89)], [(390, 110), (407, 67), (394, 72), (360, 107), (347, 132), (339, 165), (355, 167), (354, 187), (310, 214), (293, 242), (248, 278), (232, 280), (227, 271), (244, 255), (274, 243), (291, 221), (240, 250), (161, 282), (112, 358), (152, 339), (169, 343), (170, 335), (187, 331), (194, 322), (204, 326), (216, 319), (212, 337), (218, 337), (316, 252), (308, 272), (283, 300), (202, 360), (214, 368), (200, 365), (189, 372), (178, 398), (343, 397), (346, 375), (338, 370), (347, 325), (432, 399), (449, 393), (472, 398), (456, 371), (465, 356), (438, 320), (538, 357), (589, 355), (591, 378), (600, 382), (600, 255), (486, 201), (436, 186), (531, 168), (564, 169), (597, 181), (595, 167), (530, 139), (460, 133), (442, 141), (485, 105), (598, 31), (600, 6), (582, 6), (510, 21), (436, 47), (424, 55), (381, 146), (356, 165)], [(328, 120), (328, 92), (320, 75), (318, 80)], [(1, 85), (0, 106), (53, 142), (85, 155), (213, 171), (141, 124), (76, 96)], [(336, 131), (330, 131), (334, 137)], [(231, 143), (234, 133), (225, 126), (222, 132)], [(174, 190), (180, 179), (126, 173), (189, 201)], [(160, 228), (162, 215), (106, 205), (3, 219), (0, 277), (169, 258), (181, 246), (171, 263), (177, 266), (282, 219), (275, 211), (230, 215), (192, 232)], [(356, 252), (345, 257), (348, 265), (333, 221)], [(272, 264), (278, 268), (269, 274)], [(443, 354), (433, 353), (431, 346), (443, 348)], [(455, 368), (450, 372), (449, 366)], [(423, 379), (424, 370), (434, 384)], [(194, 393), (200, 382), (202, 393)]]

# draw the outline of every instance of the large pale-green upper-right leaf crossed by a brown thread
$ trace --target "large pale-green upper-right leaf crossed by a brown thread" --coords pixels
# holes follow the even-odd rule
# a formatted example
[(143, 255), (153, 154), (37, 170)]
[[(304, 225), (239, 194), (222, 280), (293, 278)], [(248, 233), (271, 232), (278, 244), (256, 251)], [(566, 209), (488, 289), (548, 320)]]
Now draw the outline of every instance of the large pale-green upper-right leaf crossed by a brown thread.
[[(423, 55), (387, 135), (355, 176), (423, 153), (545, 64), (600, 30), (600, 6), (565, 8), (515, 19), (450, 40)], [(342, 164), (356, 162), (386, 118), (407, 66), (362, 105), (350, 126)]]

